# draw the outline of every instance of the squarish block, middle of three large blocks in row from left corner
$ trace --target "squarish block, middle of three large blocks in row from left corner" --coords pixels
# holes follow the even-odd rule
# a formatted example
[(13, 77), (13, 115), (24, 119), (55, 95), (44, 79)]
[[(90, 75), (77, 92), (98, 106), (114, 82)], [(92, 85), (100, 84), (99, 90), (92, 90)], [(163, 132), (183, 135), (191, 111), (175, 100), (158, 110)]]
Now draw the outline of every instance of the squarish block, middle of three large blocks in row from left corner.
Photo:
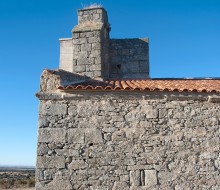
[(84, 143), (85, 142), (85, 129), (83, 128), (73, 128), (67, 131), (67, 141), (68, 143)]

